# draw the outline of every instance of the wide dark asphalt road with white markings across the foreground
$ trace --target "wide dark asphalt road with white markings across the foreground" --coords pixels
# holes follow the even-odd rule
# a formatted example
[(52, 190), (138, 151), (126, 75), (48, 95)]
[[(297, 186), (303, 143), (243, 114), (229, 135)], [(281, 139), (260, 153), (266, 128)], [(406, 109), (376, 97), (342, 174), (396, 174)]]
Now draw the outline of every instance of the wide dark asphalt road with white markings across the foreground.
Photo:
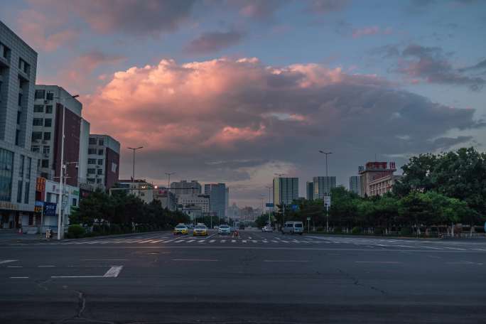
[(486, 242), (240, 232), (2, 241), (0, 323), (486, 323)]

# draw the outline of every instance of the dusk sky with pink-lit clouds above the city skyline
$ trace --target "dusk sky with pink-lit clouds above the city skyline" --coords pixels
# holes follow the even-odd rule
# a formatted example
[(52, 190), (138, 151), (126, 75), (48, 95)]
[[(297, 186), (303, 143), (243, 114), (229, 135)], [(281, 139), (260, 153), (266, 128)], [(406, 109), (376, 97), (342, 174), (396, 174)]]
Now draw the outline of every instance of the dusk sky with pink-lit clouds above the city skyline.
[(259, 206), (274, 173), (349, 184), (367, 161), (485, 151), (486, 1), (0, 0), (38, 84), (79, 94), (121, 143), (120, 178), (224, 182)]

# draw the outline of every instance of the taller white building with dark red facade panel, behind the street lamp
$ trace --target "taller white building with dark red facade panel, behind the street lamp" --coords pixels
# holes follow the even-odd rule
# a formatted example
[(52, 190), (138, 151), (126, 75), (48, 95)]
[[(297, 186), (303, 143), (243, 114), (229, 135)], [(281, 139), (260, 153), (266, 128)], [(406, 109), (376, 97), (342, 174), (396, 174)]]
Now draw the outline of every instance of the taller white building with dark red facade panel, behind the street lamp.
[[(63, 114), (65, 115), (63, 117)], [(64, 120), (63, 120), (64, 119)], [(38, 175), (59, 181), (64, 124), (65, 177), (68, 185), (85, 182), (90, 123), (82, 119), (82, 104), (58, 85), (36, 85), (33, 109), (32, 151), (41, 153)], [(82, 144), (82, 146), (81, 146)], [(81, 159), (82, 158), (82, 159)]]

